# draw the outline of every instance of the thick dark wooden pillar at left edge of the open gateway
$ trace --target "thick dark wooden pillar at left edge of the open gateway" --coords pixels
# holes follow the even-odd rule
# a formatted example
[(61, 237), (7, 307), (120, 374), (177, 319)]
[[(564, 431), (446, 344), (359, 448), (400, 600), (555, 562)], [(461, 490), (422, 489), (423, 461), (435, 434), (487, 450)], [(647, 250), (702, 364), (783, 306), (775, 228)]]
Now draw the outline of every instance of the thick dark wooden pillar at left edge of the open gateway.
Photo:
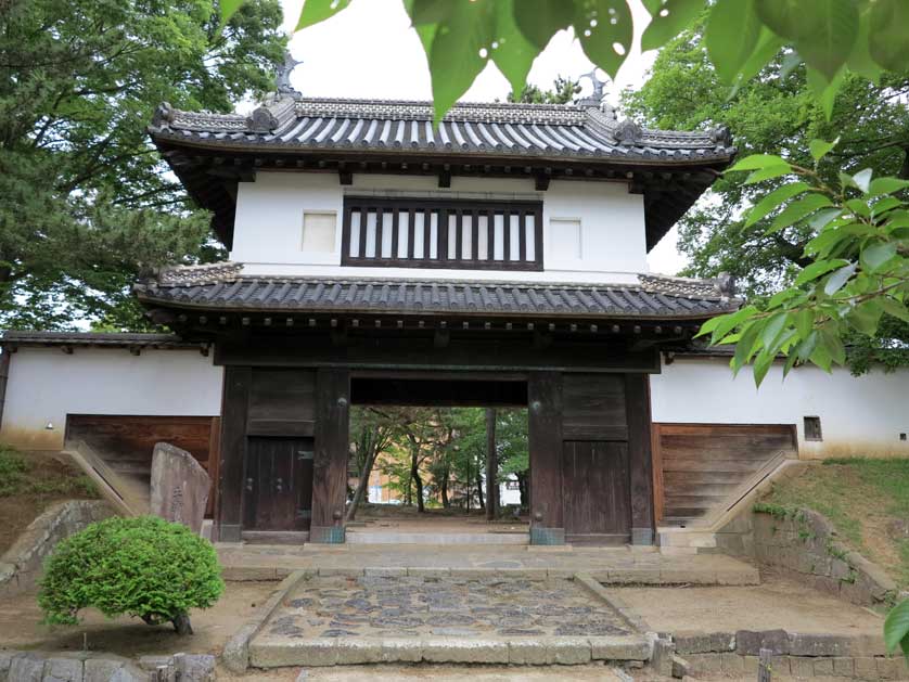
[(344, 542), (349, 414), (350, 373), (347, 370), (318, 370), (311, 542)]

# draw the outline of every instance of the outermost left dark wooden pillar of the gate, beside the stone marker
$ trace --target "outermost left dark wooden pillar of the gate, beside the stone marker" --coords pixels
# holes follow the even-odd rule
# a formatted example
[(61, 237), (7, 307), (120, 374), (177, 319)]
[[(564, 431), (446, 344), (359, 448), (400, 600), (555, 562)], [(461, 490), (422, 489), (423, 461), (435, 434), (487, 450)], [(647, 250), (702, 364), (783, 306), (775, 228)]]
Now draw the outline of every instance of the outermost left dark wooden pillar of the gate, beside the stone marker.
[(221, 399), (220, 461), (214, 537), (240, 542), (242, 532), (243, 477), (246, 462), (246, 413), (253, 372), (246, 366), (226, 366)]

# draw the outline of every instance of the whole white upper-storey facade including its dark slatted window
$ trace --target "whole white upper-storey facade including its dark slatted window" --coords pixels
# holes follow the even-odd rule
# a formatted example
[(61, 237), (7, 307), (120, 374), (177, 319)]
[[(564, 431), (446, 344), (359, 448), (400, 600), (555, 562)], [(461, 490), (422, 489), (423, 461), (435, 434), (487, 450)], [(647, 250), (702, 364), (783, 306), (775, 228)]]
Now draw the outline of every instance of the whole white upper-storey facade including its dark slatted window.
[[(407, 207), (397, 224), (392, 214), (383, 215), (387, 244), (380, 245), (380, 253), (385, 257), (363, 262), (359, 242), (344, 241), (345, 205), (351, 198), (376, 204), (410, 201), (421, 209), (433, 204), (447, 207), (453, 213), (444, 217), (414, 214), (413, 227), (422, 228), (421, 220), (428, 216), (431, 229), (444, 228), (451, 240), (444, 246), (450, 246), (452, 262), (396, 261), (412, 256), (407, 243), (411, 233), (414, 246), (420, 246), (413, 255), (430, 255), (428, 249), (422, 252), (424, 234), (411, 230)], [(540, 213), (534, 205), (541, 206)], [(501, 209), (508, 206), (516, 208)], [(366, 231), (358, 231), (360, 218)], [(356, 224), (346, 228), (348, 236), (358, 231), (358, 239), (363, 234), (373, 240), (363, 244), (363, 253), (372, 257), (376, 219), (374, 210), (364, 211), (349, 218)], [(395, 233), (398, 252), (391, 258)], [(438, 248), (440, 234), (434, 232), (427, 245)], [(434, 255), (438, 257), (437, 252)], [(355, 173), (353, 184), (342, 185), (335, 173), (259, 172), (254, 182), (239, 185), (230, 256), (252, 274), (635, 283), (637, 273), (648, 271), (641, 195), (629, 193), (625, 183), (581, 180), (553, 181), (547, 191), (537, 192), (530, 178), (453, 177), (450, 188), (439, 188), (434, 176)]]

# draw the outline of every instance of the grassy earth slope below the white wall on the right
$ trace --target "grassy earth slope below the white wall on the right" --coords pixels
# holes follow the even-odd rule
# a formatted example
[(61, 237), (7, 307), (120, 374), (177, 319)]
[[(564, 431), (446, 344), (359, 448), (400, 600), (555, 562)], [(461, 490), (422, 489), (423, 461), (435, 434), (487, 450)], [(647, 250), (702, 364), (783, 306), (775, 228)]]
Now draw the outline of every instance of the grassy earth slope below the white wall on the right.
[(764, 501), (823, 514), (846, 544), (909, 587), (909, 460), (828, 460)]

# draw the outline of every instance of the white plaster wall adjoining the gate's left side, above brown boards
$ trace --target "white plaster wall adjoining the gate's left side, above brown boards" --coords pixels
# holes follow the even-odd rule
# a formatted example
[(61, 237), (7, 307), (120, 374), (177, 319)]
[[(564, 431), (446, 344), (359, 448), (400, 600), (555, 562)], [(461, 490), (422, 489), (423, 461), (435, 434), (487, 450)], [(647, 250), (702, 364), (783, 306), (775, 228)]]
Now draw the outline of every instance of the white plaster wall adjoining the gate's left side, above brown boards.
[[(223, 369), (199, 350), (22, 347), (11, 357), (0, 442), (63, 447), (67, 414), (216, 416)], [(48, 425), (51, 428), (48, 428)]]

